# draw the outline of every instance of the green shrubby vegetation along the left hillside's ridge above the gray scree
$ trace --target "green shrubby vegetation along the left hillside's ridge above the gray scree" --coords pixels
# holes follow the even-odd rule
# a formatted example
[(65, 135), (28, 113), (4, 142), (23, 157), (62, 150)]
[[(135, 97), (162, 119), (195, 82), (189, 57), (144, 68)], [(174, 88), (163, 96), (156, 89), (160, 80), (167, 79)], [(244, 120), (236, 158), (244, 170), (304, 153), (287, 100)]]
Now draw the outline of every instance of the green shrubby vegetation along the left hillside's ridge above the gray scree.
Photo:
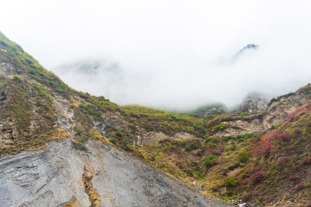
[[(205, 134), (207, 121), (204, 119), (147, 107), (120, 107), (110, 102), (104, 96), (96, 97), (89, 93), (75, 91), (53, 73), (47, 71), (35, 58), (26, 53), (18, 44), (10, 41), (2, 32), (0, 32), (0, 62), (10, 63), (14, 67), (20, 68), (25, 74), (22, 78), (16, 76), (16, 80), (9, 80), (2, 77), (4, 81), (1, 83), (1, 90), (8, 92), (9, 105), (11, 105), (11, 108), (4, 110), (5, 114), (7, 117), (15, 116), (19, 119), (16, 124), (18, 128), (23, 128), (25, 131), (31, 131), (30, 120), (32, 117), (29, 114), (32, 113), (31, 111), (34, 108), (37, 109), (45, 106), (51, 113), (46, 113), (44, 110), (38, 111), (38, 113), (46, 114), (47, 119), (55, 119), (55, 109), (52, 107), (52, 94), (55, 93), (67, 98), (72, 103), (71, 107), (75, 111), (75, 114), (85, 120), (91, 120), (91, 117), (102, 120), (104, 114), (109, 112), (119, 113), (128, 122), (126, 130), (122, 131), (122, 139), (120, 139), (120, 136), (114, 136), (118, 139), (120, 147), (125, 147), (128, 143), (127, 140), (124, 141), (123, 137), (126, 136), (130, 139), (133, 137), (132, 134), (141, 133), (139, 128), (144, 128), (147, 131), (162, 131), (166, 134), (173, 134), (175, 132), (189, 132), (197, 136), (203, 136)], [(11, 85), (16, 86), (16, 91), (14, 91)], [(16, 93), (19, 95), (17, 96)], [(30, 99), (29, 97), (35, 98)], [(43, 120), (43, 122), (46, 123), (46, 120)], [(80, 127), (84, 128), (83, 135), (87, 135), (88, 129), (86, 128), (91, 127), (87, 123), (89, 122), (82, 121), (81, 123)], [(53, 123), (47, 123), (47, 125), (52, 126)], [(75, 128), (75, 130), (79, 129)], [(40, 132), (45, 131), (48, 130), (41, 130)], [(29, 140), (30, 135), (33, 134), (35, 133), (27, 133), (27, 139), (20, 140), (19, 143)], [(29, 142), (32, 142), (32, 139)], [(22, 149), (24, 148), (14, 149), (12, 152)], [(2, 149), (2, 152), (4, 151), (7, 152), (7, 150)]]

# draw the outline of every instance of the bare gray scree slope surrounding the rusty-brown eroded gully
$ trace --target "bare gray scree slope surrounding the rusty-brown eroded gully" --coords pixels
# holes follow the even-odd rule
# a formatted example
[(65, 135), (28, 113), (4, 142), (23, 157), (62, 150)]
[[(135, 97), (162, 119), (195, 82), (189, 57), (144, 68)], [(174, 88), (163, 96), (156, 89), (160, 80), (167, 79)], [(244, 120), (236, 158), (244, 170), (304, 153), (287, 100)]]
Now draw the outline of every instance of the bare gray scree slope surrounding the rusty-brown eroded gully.
[(0, 158), (0, 206), (90, 206), (84, 166), (101, 206), (230, 206), (209, 198), (106, 143), (71, 139), (50, 142), (46, 150)]

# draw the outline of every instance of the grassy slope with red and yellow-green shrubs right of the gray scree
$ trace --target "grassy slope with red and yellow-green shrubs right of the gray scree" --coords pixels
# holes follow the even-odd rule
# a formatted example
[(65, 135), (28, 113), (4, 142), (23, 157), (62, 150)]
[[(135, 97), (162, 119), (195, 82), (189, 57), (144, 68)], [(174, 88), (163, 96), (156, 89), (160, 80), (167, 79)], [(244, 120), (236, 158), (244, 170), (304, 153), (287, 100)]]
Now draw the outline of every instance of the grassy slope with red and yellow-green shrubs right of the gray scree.
[[(310, 91), (308, 84), (296, 93)], [(311, 200), (310, 101), (267, 135), (164, 140), (132, 154), (184, 182), (203, 184), (196, 187), (210, 196), (265, 204), (294, 198), (305, 204)]]

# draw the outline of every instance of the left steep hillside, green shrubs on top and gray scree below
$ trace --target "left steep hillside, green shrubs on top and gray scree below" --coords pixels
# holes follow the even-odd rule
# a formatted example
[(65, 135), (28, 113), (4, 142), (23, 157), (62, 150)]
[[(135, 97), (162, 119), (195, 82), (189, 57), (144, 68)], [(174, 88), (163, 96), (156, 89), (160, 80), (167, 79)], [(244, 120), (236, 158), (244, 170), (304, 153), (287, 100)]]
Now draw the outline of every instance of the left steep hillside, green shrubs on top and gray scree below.
[(77, 92), (3, 33), (0, 80), (4, 206), (228, 206), (116, 148), (155, 128), (203, 134), (206, 121)]

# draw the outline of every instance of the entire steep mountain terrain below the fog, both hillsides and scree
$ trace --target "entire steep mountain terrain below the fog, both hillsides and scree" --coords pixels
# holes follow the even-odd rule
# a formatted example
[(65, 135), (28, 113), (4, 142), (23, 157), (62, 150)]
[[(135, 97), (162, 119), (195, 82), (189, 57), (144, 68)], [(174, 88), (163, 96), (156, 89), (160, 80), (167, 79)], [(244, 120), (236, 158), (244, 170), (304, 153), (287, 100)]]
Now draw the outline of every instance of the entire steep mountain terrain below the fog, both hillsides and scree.
[(308, 84), (274, 98), (265, 111), (121, 107), (71, 89), (0, 33), (2, 200), (13, 206), (226, 206), (191, 186), (251, 206), (306, 204), (310, 91)]

